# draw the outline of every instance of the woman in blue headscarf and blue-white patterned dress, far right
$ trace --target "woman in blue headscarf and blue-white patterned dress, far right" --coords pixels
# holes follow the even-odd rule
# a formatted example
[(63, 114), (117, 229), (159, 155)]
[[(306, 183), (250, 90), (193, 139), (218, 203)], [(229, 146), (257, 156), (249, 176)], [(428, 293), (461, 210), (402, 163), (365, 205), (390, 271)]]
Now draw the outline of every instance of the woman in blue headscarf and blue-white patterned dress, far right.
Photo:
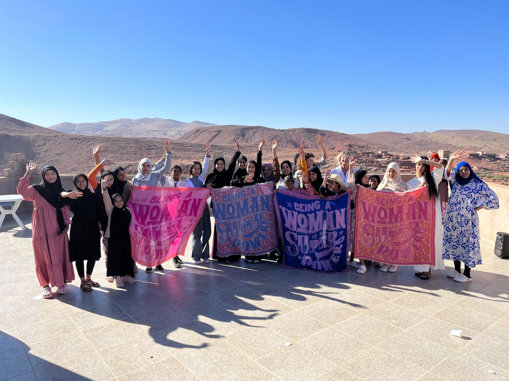
[[(444, 216), (443, 259), (454, 261), (454, 271), (447, 274), (457, 282), (472, 280), (470, 269), (482, 264), (479, 246), (479, 209), (498, 209), (498, 197), (479, 179), (467, 162), (453, 168), (455, 159), (466, 156), (457, 151), (449, 157), (445, 178), (450, 181), (451, 194)], [(461, 274), (461, 262), (465, 270)]]

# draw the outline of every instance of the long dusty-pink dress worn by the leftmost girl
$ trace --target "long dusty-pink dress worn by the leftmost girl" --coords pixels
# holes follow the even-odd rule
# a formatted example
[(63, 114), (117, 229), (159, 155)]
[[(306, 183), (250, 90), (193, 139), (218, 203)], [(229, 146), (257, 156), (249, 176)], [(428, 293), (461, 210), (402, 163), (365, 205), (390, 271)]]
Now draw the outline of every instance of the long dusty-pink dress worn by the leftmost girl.
[[(32, 186), (29, 179), (21, 178), (17, 187), (19, 195), (34, 202), (32, 215), (32, 245), (34, 246), (35, 271), (41, 287), (61, 287), (64, 281), (74, 280), (74, 269), (69, 262), (69, 239), (67, 234), (58, 237), (59, 226), (56, 211)], [(62, 208), (64, 221), (71, 221), (69, 207)]]

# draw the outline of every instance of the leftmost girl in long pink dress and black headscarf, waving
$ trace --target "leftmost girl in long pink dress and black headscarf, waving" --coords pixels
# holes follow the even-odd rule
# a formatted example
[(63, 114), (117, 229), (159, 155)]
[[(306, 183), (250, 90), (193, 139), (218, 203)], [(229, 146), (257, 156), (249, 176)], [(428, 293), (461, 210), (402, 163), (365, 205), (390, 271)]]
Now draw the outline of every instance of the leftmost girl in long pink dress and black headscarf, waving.
[(69, 207), (60, 200), (64, 191), (58, 171), (45, 166), (40, 184), (29, 185), (37, 166), (29, 163), (25, 175), (19, 180), (17, 192), (26, 201), (34, 202), (32, 215), (32, 244), (34, 246), (36, 274), (42, 286), (42, 297), (52, 298), (50, 285), (58, 287), (59, 294), (67, 292), (67, 282), (74, 280), (69, 262)]

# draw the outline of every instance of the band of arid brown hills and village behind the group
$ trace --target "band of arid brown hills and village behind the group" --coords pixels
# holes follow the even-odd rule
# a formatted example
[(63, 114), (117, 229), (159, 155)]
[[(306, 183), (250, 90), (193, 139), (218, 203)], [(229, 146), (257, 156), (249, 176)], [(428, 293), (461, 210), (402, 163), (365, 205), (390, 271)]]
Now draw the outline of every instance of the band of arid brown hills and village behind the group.
[[(171, 139), (173, 163), (183, 166), (200, 160), (203, 143), (209, 141), (212, 151), (233, 153), (235, 137), (242, 153), (256, 155), (258, 142), (267, 140), (264, 161), (272, 159), (269, 142), (278, 140), (278, 156), (293, 159), (296, 148), (321, 155), (316, 134), (325, 137), (329, 156), (348, 150), (359, 155), (360, 168), (383, 172), (390, 161), (397, 161), (403, 172), (411, 173), (409, 157), (430, 151), (468, 150), (474, 169), (483, 177), (506, 181), (509, 173), (509, 135), (480, 130), (438, 130), (433, 133), (374, 132), (345, 134), (311, 128), (272, 129), (264, 126), (216, 125), (207, 122), (180, 122), (174, 119), (117, 119), (95, 123), (59, 123), (44, 128), (0, 114), (0, 165), (8, 168), (13, 153), (24, 153), (26, 160), (39, 165), (53, 164), (62, 174), (87, 172), (94, 166), (92, 148), (101, 144), (101, 157), (112, 158), (128, 173), (136, 173), (142, 157), (157, 161), (164, 153), (162, 139)], [(335, 166), (331, 162), (331, 167)], [(498, 176), (498, 177), (497, 177)]]

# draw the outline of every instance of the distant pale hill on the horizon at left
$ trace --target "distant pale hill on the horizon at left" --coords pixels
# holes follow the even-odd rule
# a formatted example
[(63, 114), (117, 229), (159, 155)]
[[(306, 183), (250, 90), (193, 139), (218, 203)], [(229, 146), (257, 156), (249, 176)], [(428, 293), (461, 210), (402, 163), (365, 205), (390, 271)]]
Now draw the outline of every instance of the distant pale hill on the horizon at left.
[(59, 123), (52, 130), (78, 135), (124, 136), (144, 139), (175, 139), (199, 126), (214, 125), (193, 120), (190, 123), (174, 119), (117, 119), (95, 123)]

